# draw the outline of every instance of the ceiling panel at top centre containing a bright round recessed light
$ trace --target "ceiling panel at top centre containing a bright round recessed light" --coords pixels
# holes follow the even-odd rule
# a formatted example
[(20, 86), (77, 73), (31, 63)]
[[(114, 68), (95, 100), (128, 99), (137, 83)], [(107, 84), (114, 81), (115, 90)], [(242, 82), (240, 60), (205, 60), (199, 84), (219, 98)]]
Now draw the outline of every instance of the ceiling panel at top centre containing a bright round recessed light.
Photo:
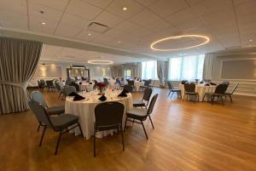
[[(123, 10), (126, 7), (127, 10)], [(137, 14), (143, 9), (143, 6), (140, 3), (137, 3), (134, 0), (114, 0), (108, 8), (106, 9), (110, 13), (117, 14), (123, 18), (130, 18), (134, 14)]]

